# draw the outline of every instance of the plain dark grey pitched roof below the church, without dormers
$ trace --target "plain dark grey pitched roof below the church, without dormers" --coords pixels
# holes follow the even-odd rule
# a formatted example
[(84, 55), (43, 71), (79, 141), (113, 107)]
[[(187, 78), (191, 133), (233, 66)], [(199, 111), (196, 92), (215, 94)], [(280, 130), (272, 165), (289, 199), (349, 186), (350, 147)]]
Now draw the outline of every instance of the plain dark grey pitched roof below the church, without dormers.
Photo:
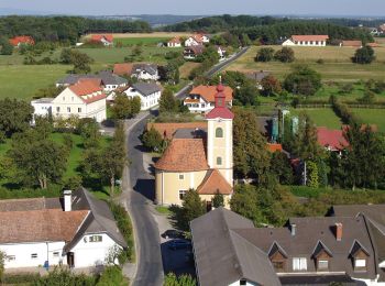
[(190, 223), (199, 285), (229, 285), (242, 278), (257, 285), (280, 285), (266, 254), (239, 235), (253, 222), (218, 208)]

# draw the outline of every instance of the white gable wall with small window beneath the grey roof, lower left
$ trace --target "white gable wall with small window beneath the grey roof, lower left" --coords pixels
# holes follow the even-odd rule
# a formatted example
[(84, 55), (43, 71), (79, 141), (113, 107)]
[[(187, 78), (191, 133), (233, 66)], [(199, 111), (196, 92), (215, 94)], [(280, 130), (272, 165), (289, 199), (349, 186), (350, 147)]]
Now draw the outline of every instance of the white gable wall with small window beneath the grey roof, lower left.
[[(108, 234), (102, 235), (101, 242), (89, 242), (94, 234), (85, 235), (72, 250), (75, 257), (75, 267), (90, 267), (106, 262), (111, 249), (119, 246)], [(119, 246), (120, 248), (120, 246)]]

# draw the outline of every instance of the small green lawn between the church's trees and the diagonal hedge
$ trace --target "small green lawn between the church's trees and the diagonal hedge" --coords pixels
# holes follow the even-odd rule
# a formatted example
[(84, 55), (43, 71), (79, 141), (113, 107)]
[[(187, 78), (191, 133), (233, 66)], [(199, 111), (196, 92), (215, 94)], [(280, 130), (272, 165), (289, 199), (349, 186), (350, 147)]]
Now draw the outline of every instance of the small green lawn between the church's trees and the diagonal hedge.
[(307, 109), (292, 109), (293, 116), (298, 116), (306, 112), (317, 127), (327, 127), (329, 129), (341, 129), (341, 120), (336, 116), (334, 111), (329, 108), (307, 108)]

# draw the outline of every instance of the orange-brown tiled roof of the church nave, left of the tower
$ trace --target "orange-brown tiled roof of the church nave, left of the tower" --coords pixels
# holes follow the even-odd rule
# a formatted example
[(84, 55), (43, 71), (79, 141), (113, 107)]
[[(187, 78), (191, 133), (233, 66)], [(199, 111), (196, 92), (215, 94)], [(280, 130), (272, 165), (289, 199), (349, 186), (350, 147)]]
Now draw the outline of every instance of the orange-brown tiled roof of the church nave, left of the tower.
[(207, 170), (202, 139), (173, 139), (155, 168), (168, 172)]

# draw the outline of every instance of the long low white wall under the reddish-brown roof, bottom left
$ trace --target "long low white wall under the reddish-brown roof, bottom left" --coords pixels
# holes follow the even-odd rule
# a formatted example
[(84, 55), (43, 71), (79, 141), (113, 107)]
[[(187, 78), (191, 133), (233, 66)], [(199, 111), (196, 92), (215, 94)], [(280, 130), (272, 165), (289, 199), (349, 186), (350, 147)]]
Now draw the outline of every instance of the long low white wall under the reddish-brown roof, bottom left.
[[(67, 264), (67, 257), (62, 256), (64, 245), (64, 241), (0, 244), (0, 251), (8, 256), (14, 256), (14, 260), (6, 260), (6, 268), (37, 267), (44, 266), (46, 261), (50, 265), (58, 265), (61, 261), (63, 264)], [(58, 255), (54, 255), (54, 252), (58, 252)], [(37, 258), (32, 258), (32, 254), (37, 254)]]

